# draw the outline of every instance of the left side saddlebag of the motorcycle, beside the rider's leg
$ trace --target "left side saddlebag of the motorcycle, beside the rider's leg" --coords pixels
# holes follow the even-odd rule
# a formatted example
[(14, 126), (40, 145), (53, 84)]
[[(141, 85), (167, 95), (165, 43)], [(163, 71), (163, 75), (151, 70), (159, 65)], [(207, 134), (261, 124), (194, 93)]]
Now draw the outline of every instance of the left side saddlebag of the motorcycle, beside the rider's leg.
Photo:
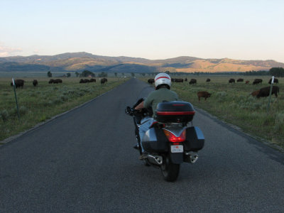
[[(149, 153), (167, 152), (168, 138), (165, 136), (163, 129), (153, 127), (146, 131), (146, 136), (143, 137), (142, 146), (144, 151)], [(144, 140), (146, 139), (146, 141)]]

